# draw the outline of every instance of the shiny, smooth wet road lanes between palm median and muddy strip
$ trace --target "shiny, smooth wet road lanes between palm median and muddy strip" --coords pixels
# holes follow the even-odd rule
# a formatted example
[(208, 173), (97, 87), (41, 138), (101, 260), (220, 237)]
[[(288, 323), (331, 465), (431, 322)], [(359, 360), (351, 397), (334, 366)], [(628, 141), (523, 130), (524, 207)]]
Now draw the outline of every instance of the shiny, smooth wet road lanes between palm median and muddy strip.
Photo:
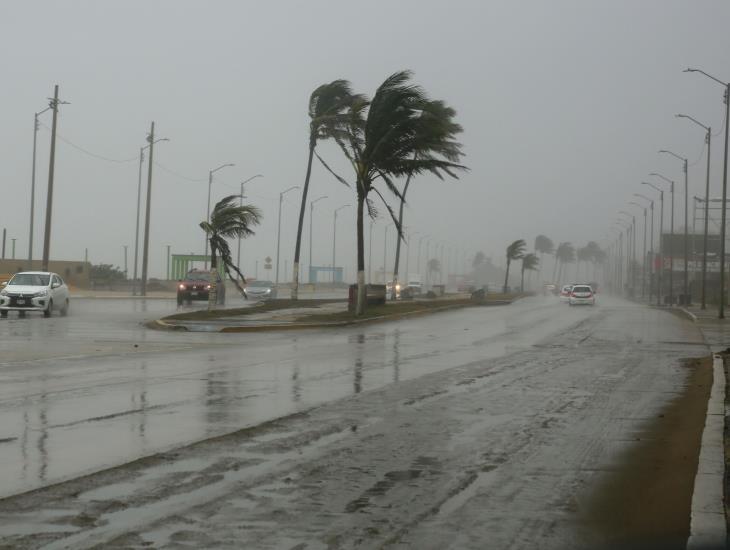
[(0, 495), (499, 357), (601, 315), (534, 298), (327, 332), (140, 326), (174, 309), (78, 300), (68, 318), (0, 322)]

